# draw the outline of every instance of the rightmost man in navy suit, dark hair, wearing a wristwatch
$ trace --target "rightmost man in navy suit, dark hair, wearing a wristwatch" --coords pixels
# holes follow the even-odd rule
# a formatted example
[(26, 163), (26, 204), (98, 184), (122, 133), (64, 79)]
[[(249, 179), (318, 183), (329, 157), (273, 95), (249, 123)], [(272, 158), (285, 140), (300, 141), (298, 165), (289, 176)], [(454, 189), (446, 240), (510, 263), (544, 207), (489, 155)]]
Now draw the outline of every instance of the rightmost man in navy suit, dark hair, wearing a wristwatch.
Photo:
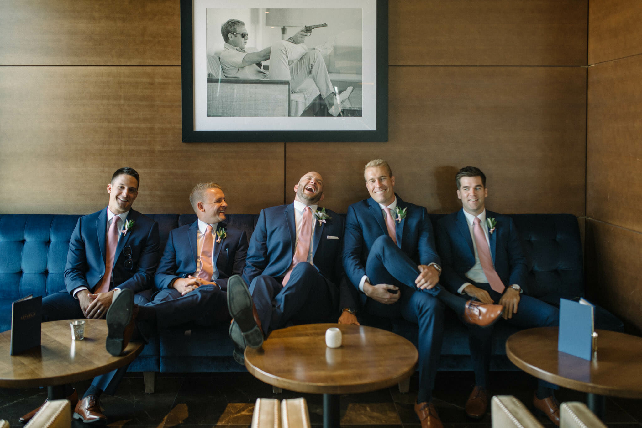
[[(517, 327), (558, 325), (557, 308), (524, 293), (527, 268), (519, 235), (510, 217), (486, 210), (488, 188), (484, 173), (476, 167), (464, 167), (458, 171), (456, 181), (462, 209), (440, 219), (437, 227), (437, 244), (444, 262), (442, 284), (453, 293), (502, 305), (503, 322)], [(475, 387), (465, 411), (472, 418), (481, 418), (488, 406), (492, 329), (469, 329)], [(553, 388), (557, 387), (540, 381), (534, 406), (559, 425)]]

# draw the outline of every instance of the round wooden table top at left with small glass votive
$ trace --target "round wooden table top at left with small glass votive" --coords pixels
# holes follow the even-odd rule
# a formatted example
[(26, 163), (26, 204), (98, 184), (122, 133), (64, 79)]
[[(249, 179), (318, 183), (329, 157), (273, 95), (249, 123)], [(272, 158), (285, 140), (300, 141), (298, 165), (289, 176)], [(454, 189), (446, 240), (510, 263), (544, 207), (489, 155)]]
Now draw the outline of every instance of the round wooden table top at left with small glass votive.
[(107, 321), (85, 320), (85, 339), (72, 340), (70, 320), (42, 323), (40, 348), (10, 355), (11, 330), (0, 333), (0, 388), (35, 388), (83, 381), (134, 361), (144, 344), (130, 342), (123, 355), (105, 349)]

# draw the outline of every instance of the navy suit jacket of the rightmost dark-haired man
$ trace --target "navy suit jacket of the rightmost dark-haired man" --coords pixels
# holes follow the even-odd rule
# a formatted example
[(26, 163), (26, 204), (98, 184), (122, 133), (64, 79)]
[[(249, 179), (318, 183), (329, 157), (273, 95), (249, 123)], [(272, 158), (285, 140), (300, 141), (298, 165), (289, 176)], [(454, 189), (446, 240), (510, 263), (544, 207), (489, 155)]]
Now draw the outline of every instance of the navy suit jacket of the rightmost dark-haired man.
[[(526, 284), (526, 257), (512, 218), (486, 210), (486, 218), (497, 221), (495, 232), (489, 234), (490, 255), (495, 271), (505, 286)], [(484, 225), (484, 227), (487, 227)], [(444, 264), (441, 283), (453, 293), (465, 282), (471, 282), (465, 273), (475, 264), (473, 239), (464, 216), (464, 210), (448, 214), (437, 223), (437, 245)]]

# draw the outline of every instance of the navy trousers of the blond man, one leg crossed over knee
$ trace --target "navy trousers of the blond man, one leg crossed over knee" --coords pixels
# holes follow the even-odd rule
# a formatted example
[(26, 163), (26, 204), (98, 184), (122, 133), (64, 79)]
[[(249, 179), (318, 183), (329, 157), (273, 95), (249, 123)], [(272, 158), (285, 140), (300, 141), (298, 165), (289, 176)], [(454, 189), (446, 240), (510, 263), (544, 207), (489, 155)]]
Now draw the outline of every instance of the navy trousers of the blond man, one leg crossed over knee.
[(365, 310), (374, 316), (404, 319), (419, 325), (419, 393), (417, 402), (430, 401), (444, 339), (444, 305), (437, 299), (440, 286), (419, 290), (415, 279), (417, 263), (395, 245), (389, 236), (374, 241), (365, 266), (371, 284), (395, 284), (401, 296), (395, 304), (385, 305), (368, 299)]

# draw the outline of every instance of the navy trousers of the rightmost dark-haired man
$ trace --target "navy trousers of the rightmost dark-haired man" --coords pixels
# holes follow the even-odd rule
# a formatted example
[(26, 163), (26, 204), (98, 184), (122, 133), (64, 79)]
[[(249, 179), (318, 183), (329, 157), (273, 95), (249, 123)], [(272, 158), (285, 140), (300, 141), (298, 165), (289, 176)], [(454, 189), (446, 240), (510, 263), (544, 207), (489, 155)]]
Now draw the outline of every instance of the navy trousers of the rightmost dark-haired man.
[[(471, 284), (488, 291), (490, 298), (492, 298), (495, 303), (499, 302), (501, 293), (490, 288), (490, 284), (472, 281)], [(508, 318), (508, 320), (501, 318), (498, 323), (508, 323), (521, 329), (530, 329), (532, 327), (557, 326), (559, 325), (559, 320), (559, 309), (556, 307), (542, 302), (537, 298), (521, 295), (519, 304), (517, 304), (517, 312), (513, 314), (512, 318)], [(475, 384), (487, 387), (492, 347), (492, 327), (482, 328), (471, 324), (466, 325), (469, 331), (468, 344), (471, 349)], [(545, 386), (546, 388), (559, 388), (549, 382), (539, 382), (541, 386)]]

